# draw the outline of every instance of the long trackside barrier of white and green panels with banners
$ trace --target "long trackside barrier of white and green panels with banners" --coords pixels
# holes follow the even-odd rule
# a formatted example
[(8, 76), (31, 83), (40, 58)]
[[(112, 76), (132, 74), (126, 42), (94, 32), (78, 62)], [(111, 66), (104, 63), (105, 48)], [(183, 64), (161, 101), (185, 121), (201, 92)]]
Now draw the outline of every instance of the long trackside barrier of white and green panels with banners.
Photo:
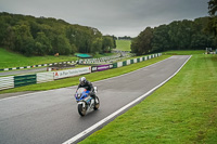
[(149, 56), (127, 60), (124, 62), (117, 62), (113, 64), (98, 65), (98, 66), (88, 66), (88, 67), (76, 68), (76, 69), (38, 73), (34, 75), (0, 77), (0, 90), (35, 84), (35, 83), (42, 83), (42, 82), (53, 81), (53, 80), (58, 80), (58, 79), (62, 79), (66, 77), (74, 77), (74, 76), (79, 76), (84, 74), (90, 74), (94, 71), (107, 70), (111, 68), (117, 68), (117, 67), (139, 63), (139, 62), (154, 58), (161, 55), (162, 53), (157, 53), (157, 54), (152, 54)]

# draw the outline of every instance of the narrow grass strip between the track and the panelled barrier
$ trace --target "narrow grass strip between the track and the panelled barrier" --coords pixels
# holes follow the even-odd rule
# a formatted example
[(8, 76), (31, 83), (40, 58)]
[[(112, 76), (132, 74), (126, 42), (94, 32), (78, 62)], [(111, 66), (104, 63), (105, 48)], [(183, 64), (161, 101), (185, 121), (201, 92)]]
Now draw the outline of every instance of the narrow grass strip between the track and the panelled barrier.
[[(148, 61), (144, 61), (141, 63), (124, 66), (120, 68), (114, 68), (114, 69), (108, 69), (105, 71), (92, 73), (92, 74), (85, 75), (85, 77), (90, 81), (98, 81), (101, 79), (106, 79), (106, 78), (119, 76), (119, 75), (123, 75), (126, 73), (130, 73), (132, 70), (136, 70), (136, 69), (142, 68), (144, 66), (154, 64), (156, 62), (163, 61), (169, 56), (170, 55), (164, 55), (164, 56), (155, 57), (155, 58), (148, 60)], [(46, 83), (30, 84), (30, 86), (26, 86), (26, 87), (2, 90), (2, 91), (0, 91), (0, 94), (12, 93), (12, 92), (22, 92), (22, 91), (42, 91), (42, 90), (51, 90), (51, 89), (77, 86), (79, 77), (80, 76), (66, 78), (66, 79), (60, 79), (60, 80), (46, 82)]]

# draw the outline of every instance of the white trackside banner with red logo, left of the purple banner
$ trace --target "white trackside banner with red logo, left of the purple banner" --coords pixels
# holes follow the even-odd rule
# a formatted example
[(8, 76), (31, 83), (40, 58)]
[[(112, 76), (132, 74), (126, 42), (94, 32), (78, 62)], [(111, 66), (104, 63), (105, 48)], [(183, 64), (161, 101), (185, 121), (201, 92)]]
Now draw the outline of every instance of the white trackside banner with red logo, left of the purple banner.
[(61, 78), (73, 77), (73, 76), (78, 76), (78, 75), (88, 74), (88, 73), (91, 73), (91, 67), (82, 67), (82, 68), (77, 68), (77, 69), (54, 71), (53, 77), (54, 79), (61, 79)]

